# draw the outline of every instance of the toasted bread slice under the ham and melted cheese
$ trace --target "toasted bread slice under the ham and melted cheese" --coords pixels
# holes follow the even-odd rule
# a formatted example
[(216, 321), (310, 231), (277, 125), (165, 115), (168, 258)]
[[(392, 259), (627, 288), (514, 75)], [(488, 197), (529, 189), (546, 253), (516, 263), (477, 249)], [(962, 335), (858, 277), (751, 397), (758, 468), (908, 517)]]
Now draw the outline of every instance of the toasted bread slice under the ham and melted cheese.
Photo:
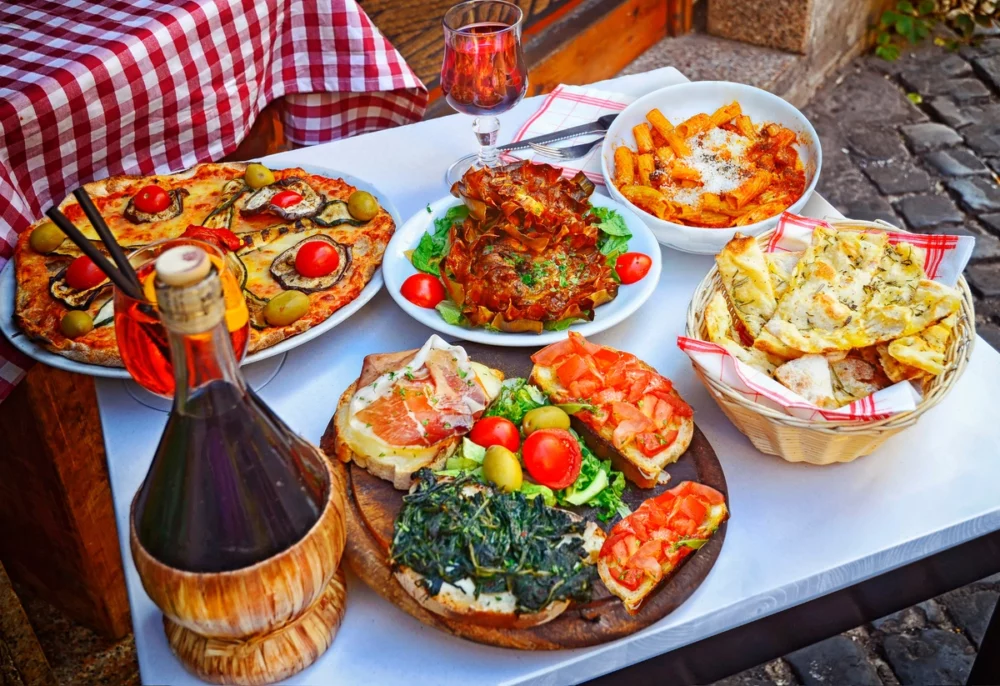
[[(361, 376), (351, 384), (337, 405), (334, 416), (334, 451), (342, 462), (355, 462), (359, 467), (368, 470), (373, 476), (391, 481), (400, 490), (407, 490), (413, 481), (413, 474), (424, 468), (438, 469), (461, 445), (462, 436), (450, 436), (431, 446), (390, 446), (379, 443), (371, 437), (361, 436), (350, 426), (351, 399), (359, 388), (373, 383), (383, 374), (402, 369), (416, 355), (416, 350), (398, 353), (378, 353), (365, 357), (361, 367)], [(485, 388), (487, 397), (492, 400), (499, 392), (503, 373), (489, 369), (484, 365), (472, 362), (476, 376)], [(492, 380), (488, 377), (491, 377)], [(485, 381), (485, 383), (484, 383)]]

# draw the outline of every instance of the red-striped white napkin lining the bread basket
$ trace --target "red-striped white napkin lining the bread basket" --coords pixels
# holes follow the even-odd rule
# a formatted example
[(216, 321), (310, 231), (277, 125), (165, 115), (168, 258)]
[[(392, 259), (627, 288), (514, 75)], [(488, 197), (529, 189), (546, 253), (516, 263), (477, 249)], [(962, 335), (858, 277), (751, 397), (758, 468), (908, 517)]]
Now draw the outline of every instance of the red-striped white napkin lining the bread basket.
[[(817, 226), (829, 226), (824, 221), (800, 217), (786, 212), (778, 221), (766, 252), (798, 252), (805, 250)], [(975, 238), (971, 236), (924, 236), (889, 234), (891, 243), (906, 242), (925, 251), (924, 271), (928, 278), (954, 286), (972, 255)], [(883, 388), (867, 398), (836, 410), (817, 407), (805, 398), (750, 365), (744, 364), (715, 343), (684, 336), (677, 337), (677, 346), (702, 371), (718, 379), (746, 399), (778, 412), (807, 420), (876, 421), (917, 407), (921, 395), (908, 382)]]

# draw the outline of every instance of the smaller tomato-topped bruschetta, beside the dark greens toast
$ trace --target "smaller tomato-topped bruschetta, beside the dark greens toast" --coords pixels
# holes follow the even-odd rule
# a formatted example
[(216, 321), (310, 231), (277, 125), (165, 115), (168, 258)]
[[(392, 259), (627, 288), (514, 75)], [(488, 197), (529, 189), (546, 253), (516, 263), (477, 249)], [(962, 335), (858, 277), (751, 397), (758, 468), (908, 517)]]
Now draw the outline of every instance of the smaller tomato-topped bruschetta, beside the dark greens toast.
[(694, 481), (650, 498), (608, 533), (597, 561), (601, 581), (635, 614), (728, 517), (722, 493)]

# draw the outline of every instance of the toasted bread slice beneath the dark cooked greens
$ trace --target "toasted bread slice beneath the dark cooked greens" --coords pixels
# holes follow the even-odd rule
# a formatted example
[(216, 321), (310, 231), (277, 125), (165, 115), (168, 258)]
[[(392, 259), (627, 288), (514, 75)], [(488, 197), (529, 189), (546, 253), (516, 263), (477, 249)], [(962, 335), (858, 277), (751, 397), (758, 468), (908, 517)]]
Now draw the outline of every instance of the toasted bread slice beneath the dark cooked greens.
[[(574, 520), (582, 519), (573, 512), (568, 513)], [(584, 549), (590, 553), (590, 562), (597, 562), (597, 556), (604, 544), (604, 531), (594, 522), (587, 522), (583, 532)], [(424, 586), (424, 577), (409, 567), (401, 567), (395, 572), (396, 580), (403, 589), (425, 609), (436, 615), (489, 626), (497, 629), (528, 629), (539, 626), (561, 615), (569, 600), (549, 603), (538, 612), (518, 613), (517, 600), (509, 591), (503, 593), (480, 593), (475, 595), (471, 579), (462, 579), (458, 584), (444, 582), (437, 595), (432, 596)]]

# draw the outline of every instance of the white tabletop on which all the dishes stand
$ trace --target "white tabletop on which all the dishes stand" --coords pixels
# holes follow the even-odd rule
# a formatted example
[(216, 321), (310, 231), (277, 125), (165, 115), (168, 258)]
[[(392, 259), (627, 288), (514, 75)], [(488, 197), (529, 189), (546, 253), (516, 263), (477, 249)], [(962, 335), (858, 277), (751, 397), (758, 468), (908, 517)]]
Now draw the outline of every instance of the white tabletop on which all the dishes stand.
[[(597, 86), (639, 96), (684, 80), (664, 68)], [(501, 141), (510, 139), (539, 101), (529, 98), (501, 117)], [(391, 195), (406, 218), (447, 193), (444, 170), (473, 147), (469, 118), (456, 115), (272, 159), (367, 178)], [(822, 217), (834, 210), (814, 196), (805, 213)], [(729, 423), (675, 344), (695, 285), (711, 262), (665, 248), (656, 294), (635, 316), (595, 338), (634, 352), (674, 380), (725, 469), (732, 519), (721, 556), (695, 594), (629, 638), (592, 649), (530, 653), (431, 629), (349, 576), (347, 613), (336, 641), (290, 683), (578, 682), (1000, 529), (1000, 355), (978, 340), (952, 393), (876, 453), (829, 467), (786, 463), (757, 452)], [(318, 443), (366, 354), (417, 347), (429, 333), (382, 292), (342, 326), (289, 353), (261, 396), (292, 429)], [(129, 502), (166, 415), (133, 400), (124, 382), (99, 380), (97, 391), (143, 680), (196, 683), (170, 653), (160, 613), (143, 591), (128, 547)]]

